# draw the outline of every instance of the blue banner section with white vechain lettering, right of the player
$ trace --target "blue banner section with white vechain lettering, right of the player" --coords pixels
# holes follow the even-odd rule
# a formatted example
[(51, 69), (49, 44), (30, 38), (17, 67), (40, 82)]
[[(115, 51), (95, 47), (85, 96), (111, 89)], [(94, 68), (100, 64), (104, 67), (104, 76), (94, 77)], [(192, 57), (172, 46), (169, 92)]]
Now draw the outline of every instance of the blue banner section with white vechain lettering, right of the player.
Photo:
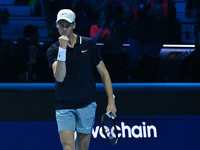
[(95, 150), (199, 150), (200, 116), (121, 116), (117, 120), (118, 144), (106, 141), (96, 121), (91, 147)]

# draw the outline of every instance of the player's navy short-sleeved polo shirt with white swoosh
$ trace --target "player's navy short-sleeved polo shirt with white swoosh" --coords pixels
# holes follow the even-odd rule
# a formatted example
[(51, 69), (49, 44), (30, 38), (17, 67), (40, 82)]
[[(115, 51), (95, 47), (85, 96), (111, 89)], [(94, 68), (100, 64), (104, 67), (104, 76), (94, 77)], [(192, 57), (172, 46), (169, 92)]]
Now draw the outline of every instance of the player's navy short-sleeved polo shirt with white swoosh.
[[(47, 50), (49, 66), (57, 60), (59, 42)], [(55, 81), (56, 109), (76, 109), (96, 99), (94, 68), (102, 60), (91, 38), (77, 36), (74, 48), (67, 47), (66, 76), (63, 82)]]

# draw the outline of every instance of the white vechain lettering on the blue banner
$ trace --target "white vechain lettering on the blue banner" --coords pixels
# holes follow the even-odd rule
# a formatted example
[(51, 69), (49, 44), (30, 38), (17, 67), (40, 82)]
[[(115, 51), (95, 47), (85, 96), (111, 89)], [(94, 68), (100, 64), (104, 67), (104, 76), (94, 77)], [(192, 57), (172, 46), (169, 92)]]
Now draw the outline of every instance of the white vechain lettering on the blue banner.
[[(157, 128), (154, 125), (146, 125), (146, 122), (142, 122), (142, 125), (129, 126), (121, 122), (121, 126), (117, 125), (119, 138), (157, 138)], [(105, 138), (103, 129), (100, 126), (96, 126), (92, 129), (93, 138), (99, 136)]]

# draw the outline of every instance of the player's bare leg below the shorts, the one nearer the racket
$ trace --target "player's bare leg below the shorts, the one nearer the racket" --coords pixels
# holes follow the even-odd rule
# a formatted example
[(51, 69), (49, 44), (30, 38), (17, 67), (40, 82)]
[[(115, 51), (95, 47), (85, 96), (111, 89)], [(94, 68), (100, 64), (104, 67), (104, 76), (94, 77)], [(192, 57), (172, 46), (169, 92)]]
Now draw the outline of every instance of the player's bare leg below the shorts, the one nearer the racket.
[(91, 134), (77, 134), (77, 148), (78, 150), (88, 150), (90, 144)]

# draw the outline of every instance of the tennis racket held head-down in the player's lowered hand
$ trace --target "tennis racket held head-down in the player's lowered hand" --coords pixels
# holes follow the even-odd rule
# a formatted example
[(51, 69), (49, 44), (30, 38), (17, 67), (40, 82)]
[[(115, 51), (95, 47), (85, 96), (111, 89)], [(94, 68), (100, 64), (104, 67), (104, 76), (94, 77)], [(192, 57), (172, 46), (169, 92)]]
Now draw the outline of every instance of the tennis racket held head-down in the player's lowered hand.
[(118, 142), (118, 131), (115, 125), (115, 118), (111, 112), (107, 112), (101, 117), (101, 126), (106, 139), (115, 145)]

